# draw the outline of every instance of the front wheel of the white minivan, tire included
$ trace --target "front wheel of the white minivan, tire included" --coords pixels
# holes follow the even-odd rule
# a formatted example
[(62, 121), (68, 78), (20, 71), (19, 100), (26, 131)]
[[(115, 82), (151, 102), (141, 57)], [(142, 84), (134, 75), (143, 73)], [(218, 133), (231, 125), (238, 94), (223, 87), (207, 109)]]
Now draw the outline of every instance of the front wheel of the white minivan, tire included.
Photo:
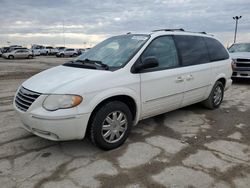
[(113, 101), (104, 104), (93, 115), (88, 133), (94, 145), (103, 150), (111, 150), (126, 141), (131, 127), (132, 114), (128, 106), (123, 102)]

